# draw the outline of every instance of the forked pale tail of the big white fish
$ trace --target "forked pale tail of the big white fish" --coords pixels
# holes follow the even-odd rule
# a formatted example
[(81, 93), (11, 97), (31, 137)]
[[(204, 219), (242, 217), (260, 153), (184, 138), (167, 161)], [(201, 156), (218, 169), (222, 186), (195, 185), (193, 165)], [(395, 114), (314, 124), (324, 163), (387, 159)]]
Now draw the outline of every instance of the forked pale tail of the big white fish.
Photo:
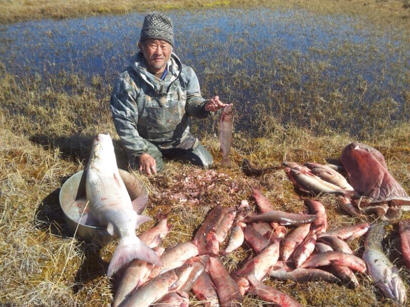
[(163, 266), (158, 255), (138, 237), (121, 238), (108, 266), (107, 276), (112, 276), (121, 267), (135, 258), (150, 262), (159, 267)]

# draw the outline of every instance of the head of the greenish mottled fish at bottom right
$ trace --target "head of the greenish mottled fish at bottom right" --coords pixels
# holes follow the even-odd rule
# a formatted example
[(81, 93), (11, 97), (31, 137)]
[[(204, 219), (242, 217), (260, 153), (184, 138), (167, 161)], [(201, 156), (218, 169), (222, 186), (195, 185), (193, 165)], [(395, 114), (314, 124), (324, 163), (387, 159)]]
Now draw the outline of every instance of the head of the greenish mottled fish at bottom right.
[(384, 296), (393, 299), (400, 305), (404, 305), (407, 301), (406, 288), (397, 271), (398, 269), (393, 271), (385, 270), (385, 279), (376, 282), (375, 286), (381, 290)]

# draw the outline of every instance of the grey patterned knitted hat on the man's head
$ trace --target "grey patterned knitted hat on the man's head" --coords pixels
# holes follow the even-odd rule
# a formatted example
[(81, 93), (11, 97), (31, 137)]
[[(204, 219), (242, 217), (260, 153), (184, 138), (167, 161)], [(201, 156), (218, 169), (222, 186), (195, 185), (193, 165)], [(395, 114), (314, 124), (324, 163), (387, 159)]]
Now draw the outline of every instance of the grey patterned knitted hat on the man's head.
[(174, 47), (174, 30), (172, 20), (167, 15), (152, 12), (145, 16), (139, 41), (146, 39), (161, 39)]

